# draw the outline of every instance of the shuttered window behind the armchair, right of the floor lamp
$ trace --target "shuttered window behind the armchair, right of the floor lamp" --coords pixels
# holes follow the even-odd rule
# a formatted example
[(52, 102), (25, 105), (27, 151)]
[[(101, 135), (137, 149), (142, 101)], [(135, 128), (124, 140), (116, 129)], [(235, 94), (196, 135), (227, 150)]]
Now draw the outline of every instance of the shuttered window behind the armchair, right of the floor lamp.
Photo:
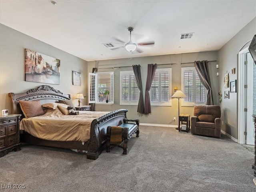
[(184, 67), (182, 73), (182, 92), (186, 95), (182, 105), (203, 105), (206, 102), (206, 88), (201, 83), (195, 67)]

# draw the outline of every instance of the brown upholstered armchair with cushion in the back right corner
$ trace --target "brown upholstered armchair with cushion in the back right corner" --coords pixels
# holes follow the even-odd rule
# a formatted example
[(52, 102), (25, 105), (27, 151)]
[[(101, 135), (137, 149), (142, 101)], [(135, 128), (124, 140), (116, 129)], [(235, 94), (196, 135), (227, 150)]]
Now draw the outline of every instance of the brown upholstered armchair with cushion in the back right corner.
[(191, 118), (191, 133), (220, 137), (220, 106), (199, 105), (194, 108), (194, 116)]

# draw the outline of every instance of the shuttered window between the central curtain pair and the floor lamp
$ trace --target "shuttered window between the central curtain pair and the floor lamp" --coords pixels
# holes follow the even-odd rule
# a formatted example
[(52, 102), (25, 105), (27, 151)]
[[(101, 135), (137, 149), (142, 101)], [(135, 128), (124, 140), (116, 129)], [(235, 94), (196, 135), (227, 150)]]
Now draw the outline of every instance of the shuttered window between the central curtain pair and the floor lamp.
[(172, 69), (156, 69), (150, 88), (150, 104), (171, 106)]

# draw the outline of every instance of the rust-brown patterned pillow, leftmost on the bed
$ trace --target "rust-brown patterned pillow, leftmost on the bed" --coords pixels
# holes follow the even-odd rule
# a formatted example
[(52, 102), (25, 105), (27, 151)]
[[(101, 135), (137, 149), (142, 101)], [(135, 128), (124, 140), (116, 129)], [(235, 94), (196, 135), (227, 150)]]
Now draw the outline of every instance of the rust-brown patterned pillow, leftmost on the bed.
[(44, 110), (39, 100), (20, 101), (20, 108), (26, 118), (40, 116), (44, 114)]

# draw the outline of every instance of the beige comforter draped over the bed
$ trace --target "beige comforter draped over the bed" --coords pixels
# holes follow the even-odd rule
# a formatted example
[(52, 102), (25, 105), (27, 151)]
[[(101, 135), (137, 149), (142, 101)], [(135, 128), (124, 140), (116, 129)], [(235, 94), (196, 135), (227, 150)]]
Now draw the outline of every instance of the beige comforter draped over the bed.
[(20, 130), (37, 138), (52, 141), (81, 141), (90, 139), (92, 120), (109, 112), (80, 111), (79, 115), (64, 115), (59, 109), (20, 121)]

